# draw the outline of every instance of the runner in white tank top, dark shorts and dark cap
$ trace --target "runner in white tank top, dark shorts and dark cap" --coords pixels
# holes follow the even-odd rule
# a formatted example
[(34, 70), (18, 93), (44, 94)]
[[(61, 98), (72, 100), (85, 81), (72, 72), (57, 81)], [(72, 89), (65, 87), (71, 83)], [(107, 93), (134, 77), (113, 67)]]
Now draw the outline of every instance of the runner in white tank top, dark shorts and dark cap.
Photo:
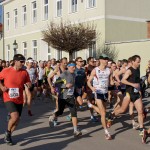
[[(108, 56), (102, 54), (100, 57), (100, 66), (96, 67), (92, 72), (88, 80), (88, 86), (95, 95), (95, 100), (98, 108), (98, 113), (101, 115), (101, 122), (105, 132), (105, 138), (111, 140), (112, 137), (107, 130), (106, 126), (106, 102), (108, 99), (108, 85), (114, 84), (110, 69), (107, 68)], [(91, 84), (93, 80), (93, 86)], [(91, 106), (90, 106), (91, 105)], [(93, 105), (90, 104), (89, 107)], [(95, 106), (96, 107), (96, 106)]]

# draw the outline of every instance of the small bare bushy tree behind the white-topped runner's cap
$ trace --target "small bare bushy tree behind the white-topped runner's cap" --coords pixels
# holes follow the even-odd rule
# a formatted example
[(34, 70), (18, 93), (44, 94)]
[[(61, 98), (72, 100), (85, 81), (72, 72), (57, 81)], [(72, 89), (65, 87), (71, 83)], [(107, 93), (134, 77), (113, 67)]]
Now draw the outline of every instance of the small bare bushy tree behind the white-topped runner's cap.
[(97, 56), (100, 56), (101, 54), (106, 54), (111, 58), (112, 60), (116, 61), (118, 58), (118, 50), (116, 50), (115, 46), (112, 45), (103, 45), (101, 48), (97, 50)]

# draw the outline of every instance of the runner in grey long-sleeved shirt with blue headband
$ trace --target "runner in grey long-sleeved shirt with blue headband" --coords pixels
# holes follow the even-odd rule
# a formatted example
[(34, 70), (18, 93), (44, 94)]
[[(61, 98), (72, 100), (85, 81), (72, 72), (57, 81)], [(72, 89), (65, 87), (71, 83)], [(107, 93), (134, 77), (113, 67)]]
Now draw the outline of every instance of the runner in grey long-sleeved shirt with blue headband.
[(54, 113), (50, 117), (50, 122), (52, 126), (54, 125), (53, 121), (55, 117), (58, 117), (63, 114), (63, 111), (66, 105), (70, 109), (71, 117), (72, 117), (72, 124), (74, 128), (74, 137), (78, 137), (82, 135), (82, 132), (77, 128), (77, 109), (74, 99), (74, 88), (75, 88), (75, 62), (70, 61), (67, 65), (68, 70), (63, 72), (60, 75), (60, 79), (63, 83), (59, 85), (60, 93), (59, 93), (59, 109), (56, 113)]

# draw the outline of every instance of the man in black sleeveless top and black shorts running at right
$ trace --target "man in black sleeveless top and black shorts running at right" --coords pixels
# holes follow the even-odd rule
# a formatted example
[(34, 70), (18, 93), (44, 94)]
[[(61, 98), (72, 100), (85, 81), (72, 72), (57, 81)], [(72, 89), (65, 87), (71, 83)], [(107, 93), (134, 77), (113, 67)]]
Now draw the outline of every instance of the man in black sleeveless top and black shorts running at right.
[(125, 75), (123, 76), (123, 79), (121, 80), (123, 84), (126, 84), (126, 96), (124, 97), (121, 107), (114, 110), (113, 113), (110, 113), (109, 118), (113, 119), (114, 116), (124, 113), (128, 108), (130, 101), (132, 101), (138, 112), (140, 135), (145, 136), (145, 130), (143, 126), (143, 103), (140, 92), (140, 62), (140, 56), (132, 56), (132, 67), (128, 68), (128, 70), (125, 72)]

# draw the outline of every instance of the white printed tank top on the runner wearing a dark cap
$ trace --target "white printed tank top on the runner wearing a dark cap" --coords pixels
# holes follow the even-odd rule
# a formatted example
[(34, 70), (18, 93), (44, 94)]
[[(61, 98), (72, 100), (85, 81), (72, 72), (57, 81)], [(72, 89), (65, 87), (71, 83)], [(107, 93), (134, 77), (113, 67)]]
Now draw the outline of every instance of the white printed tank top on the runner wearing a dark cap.
[(96, 93), (105, 94), (108, 93), (109, 76), (110, 70), (106, 68), (105, 70), (100, 70), (99, 67), (95, 68), (96, 75), (93, 79), (93, 87), (96, 88)]

